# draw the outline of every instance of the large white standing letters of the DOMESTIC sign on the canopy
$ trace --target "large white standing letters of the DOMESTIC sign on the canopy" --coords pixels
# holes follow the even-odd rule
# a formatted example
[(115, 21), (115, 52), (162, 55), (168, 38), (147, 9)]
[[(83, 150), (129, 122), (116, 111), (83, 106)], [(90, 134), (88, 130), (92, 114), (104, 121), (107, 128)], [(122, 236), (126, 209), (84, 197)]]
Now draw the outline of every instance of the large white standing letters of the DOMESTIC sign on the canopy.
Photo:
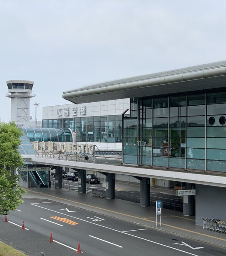
[(94, 146), (92, 144), (74, 144), (65, 142), (52, 142), (52, 141), (34, 141), (33, 147), (35, 150), (48, 150), (49, 152), (72, 152), (72, 153), (89, 153), (94, 152)]

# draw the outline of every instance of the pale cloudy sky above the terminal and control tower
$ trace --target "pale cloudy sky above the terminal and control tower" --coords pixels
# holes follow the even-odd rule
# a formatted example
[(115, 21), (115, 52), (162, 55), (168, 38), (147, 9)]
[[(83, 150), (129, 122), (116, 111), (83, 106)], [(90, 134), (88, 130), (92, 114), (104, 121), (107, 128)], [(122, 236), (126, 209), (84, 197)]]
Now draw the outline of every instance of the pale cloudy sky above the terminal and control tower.
[(6, 81), (34, 81), (30, 114), (62, 92), (226, 60), (225, 0), (0, 0), (0, 118)]

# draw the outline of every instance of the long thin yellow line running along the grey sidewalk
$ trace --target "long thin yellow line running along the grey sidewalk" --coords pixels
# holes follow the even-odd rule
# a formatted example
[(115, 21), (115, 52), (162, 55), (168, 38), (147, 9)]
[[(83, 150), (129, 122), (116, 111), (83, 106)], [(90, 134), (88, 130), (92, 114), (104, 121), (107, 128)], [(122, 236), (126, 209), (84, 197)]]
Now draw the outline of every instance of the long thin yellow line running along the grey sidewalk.
[[(146, 220), (146, 221), (155, 223), (155, 221), (149, 220), (149, 219), (146, 219), (146, 218), (137, 217), (137, 216), (133, 216), (133, 215), (125, 214), (125, 213), (119, 213), (119, 212), (116, 212), (116, 211), (113, 211), (113, 210), (108, 210), (108, 209), (101, 208), (101, 207), (97, 207), (97, 206), (93, 206), (93, 205), (90, 205), (90, 204), (84, 204), (84, 203), (80, 203), (80, 202), (77, 202), (77, 201), (72, 201), (72, 200), (69, 200), (69, 199), (60, 198), (60, 197), (57, 197), (57, 196), (54, 196), (54, 195), (48, 195), (48, 194), (45, 194), (45, 193), (42, 193), (42, 192), (36, 192), (36, 191), (33, 191), (33, 190), (29, 190), (29, 189), (27, 189), (27, 191), (30, 191), (30, 192), (33, 192), (33, 193), (37, 193), (37, 194), (40, 194), (40, 195), (47, 195), (48, 197), (57, 198), (57, 199), (62, 199), (62, 200), (64, 200), (64, 201), (73, 202), (73, 203), (76, 203), (76, 204), (81, 204), (81, 205), (89, 206), (89, 207), (96, 208), (96, 209), (99, 209), (99, 210), (105, 210), (105, 211), (111, 212), (111, 213), (117, 213), (117, 214), (119, 214), (119, 215), (132, 217), (132, 218), (134, 218), (134, 219), (143, 219), (143, 220)], [(170, 227), (170, 228), (173, 228), (173, 229), (183, 230), (183, 231), (190, 232), (190, 233), (197, 234), (197, 235), (202, 235), (202, 236), (205, 236), (205, 237), (208, 237), (208, 238), (214, 238), (214, 239), (217, 239), (217, 240), (226, 241), (226, 239), (217, 238), (217, 237), (214, 237), (214, 236), (212, 236), (212, 235), (202, 234), (202, 233), (199, 233), (199, 232), (195, 232), (195, 231), (193, 231), (193, 230), (183, 229), (183, 228), (179, 228), (179, 227), (176, 227), (176, 226), (171, 226), (171, 225), (164, 224), (164, 223), (162, 223), (162, 225), (163, 225), (163, 226)]]

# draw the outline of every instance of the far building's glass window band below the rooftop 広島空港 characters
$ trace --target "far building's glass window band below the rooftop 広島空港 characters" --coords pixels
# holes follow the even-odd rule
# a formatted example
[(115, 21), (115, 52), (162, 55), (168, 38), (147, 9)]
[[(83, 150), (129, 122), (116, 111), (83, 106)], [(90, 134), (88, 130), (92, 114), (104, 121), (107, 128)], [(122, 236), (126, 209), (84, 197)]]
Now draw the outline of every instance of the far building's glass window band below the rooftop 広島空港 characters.
[(42, 120), (44, 128), (70, 128), (78, 142), (122, 143), (122, 115)]

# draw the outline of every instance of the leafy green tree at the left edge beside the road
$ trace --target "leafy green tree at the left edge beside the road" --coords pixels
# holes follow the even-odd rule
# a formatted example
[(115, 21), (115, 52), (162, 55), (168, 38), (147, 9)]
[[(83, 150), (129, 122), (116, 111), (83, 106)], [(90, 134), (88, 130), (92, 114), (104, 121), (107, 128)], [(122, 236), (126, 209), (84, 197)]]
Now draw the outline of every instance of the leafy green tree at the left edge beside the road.
[(23, 203), (22, 194), (26, 193), (15, 174), (16, 168), (24, 165), (18, 151), (22, 134), (15, 122), (0, 123), (0, 215), (16, 210)]

